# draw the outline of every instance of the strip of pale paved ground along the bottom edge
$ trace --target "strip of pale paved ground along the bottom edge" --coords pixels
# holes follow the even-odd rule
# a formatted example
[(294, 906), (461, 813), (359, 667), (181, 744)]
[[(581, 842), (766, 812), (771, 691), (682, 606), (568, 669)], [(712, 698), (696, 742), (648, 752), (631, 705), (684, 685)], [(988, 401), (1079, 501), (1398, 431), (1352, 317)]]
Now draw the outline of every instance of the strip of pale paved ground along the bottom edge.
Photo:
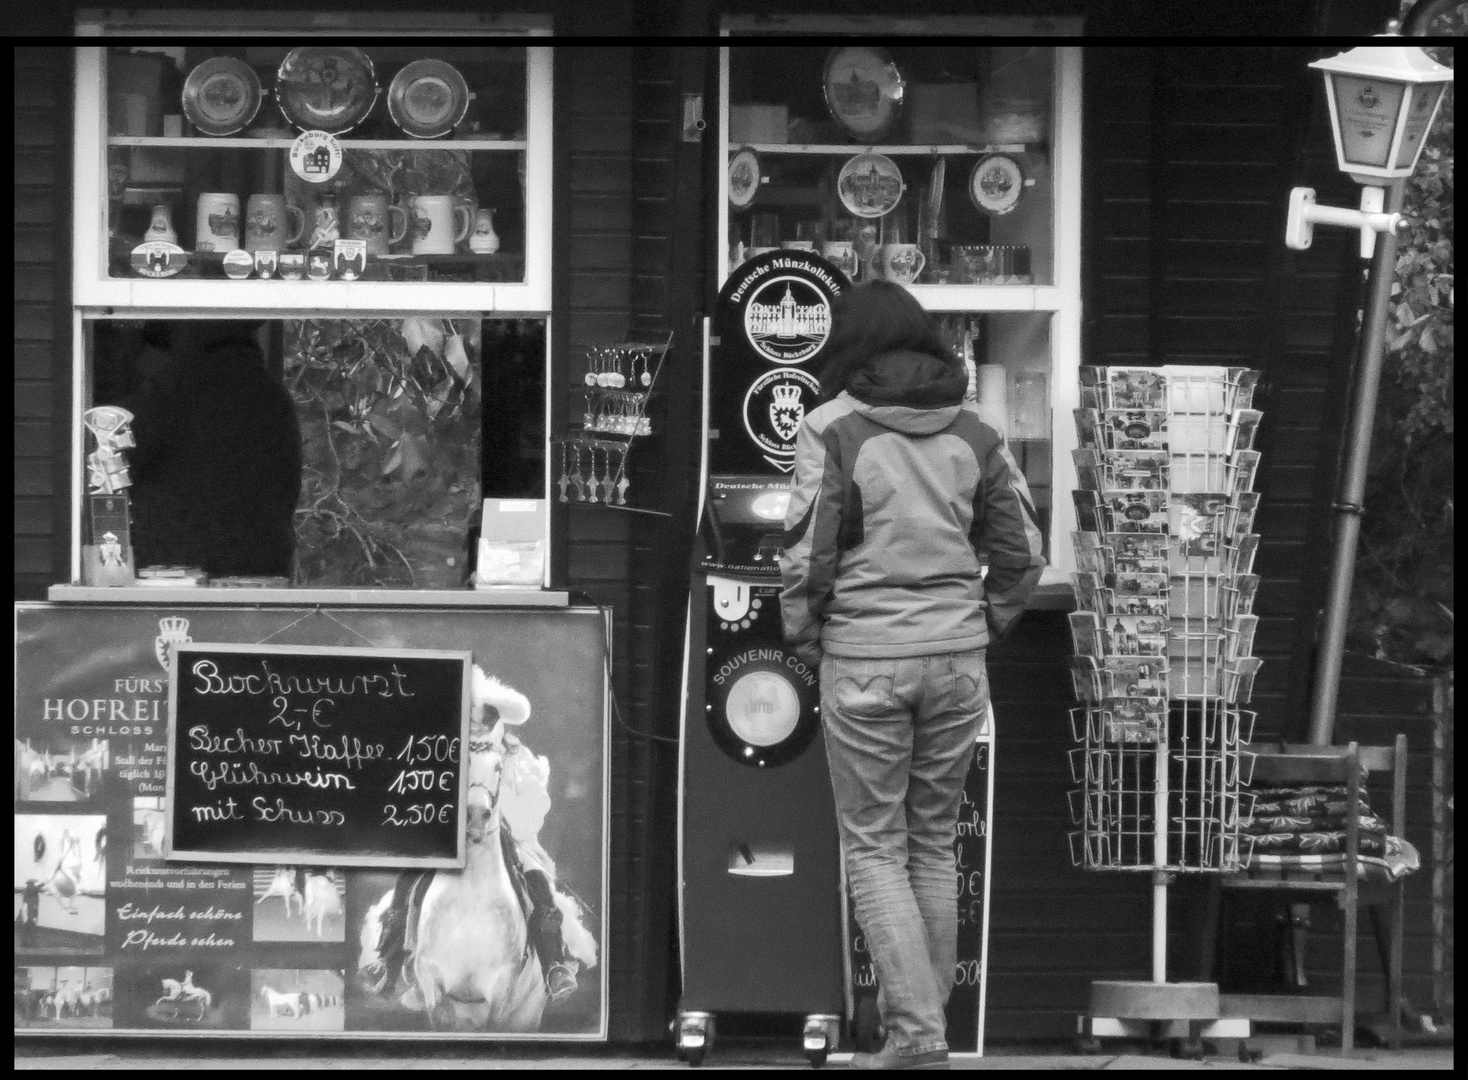
[[(1142, 1054), (1135, 1048), (1107, 1049), (1076, 1055), (1045, 1048), (995, 1048), (984, 1058), (959, 1057), (953, 1068), (1044, 1068), (1044, 1070), (1280, 1070), (1280, 1068), (1367, 1068), (1418, 1070), (1453, 1067), (1453, 1049), (1412, 1048), (1400, 1051), (1356, 1051), (1348, 1058), (1324, 1049), (1317, 1054), (1292, 1052), (1286, 1043), (1261, 1043), (1258, 1062), (1243, 1064), (1235, 1046), (1224, 1043), (1204, 1061), (1182, 1061), (1166, 1054)], [(1064, 1048), (1069, 1051), (1069, 1048)], [(1223, 1048), (1220, 1048), (1223, 1049)], [(846, 1068), (846, 1055), (832, 1055), (826, 1068)], [(70, 1068), (145, 1068), (176, 1070), (461, 1070), (461, 1068), (688, 1068), (677, 1061), (671, 1046), (424, 1046), (421, 1043), (329, 1045), (292, 1042), (291, 1045), (230, 1043), (214, 1040), (134, 1042), (109, 1039), (28, 1039), (16, 1043), (15, 1067), (40, 1070)], [(809, 1068), (799, 1048), (763, 1039), (728, 1040), (716, 1045), (703, 1068)]]

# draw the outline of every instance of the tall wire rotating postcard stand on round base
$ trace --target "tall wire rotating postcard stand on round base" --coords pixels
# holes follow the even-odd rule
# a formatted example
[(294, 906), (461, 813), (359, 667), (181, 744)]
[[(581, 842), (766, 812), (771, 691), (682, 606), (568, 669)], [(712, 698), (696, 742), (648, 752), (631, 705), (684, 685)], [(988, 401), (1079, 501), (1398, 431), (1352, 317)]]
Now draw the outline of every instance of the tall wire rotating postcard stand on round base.
[(1152, 880), (1152, 977), (1091, 985), (1091, 1048), (1171, 1039), (1196, 1057), (1202, 1037), (1249, 1035), (1246, 1018), (1220, 1015), (1216, 983), (1167, 982), (1167, 888), (1248, 861), (1257, 377), (1080, 368), (1072, 858)]

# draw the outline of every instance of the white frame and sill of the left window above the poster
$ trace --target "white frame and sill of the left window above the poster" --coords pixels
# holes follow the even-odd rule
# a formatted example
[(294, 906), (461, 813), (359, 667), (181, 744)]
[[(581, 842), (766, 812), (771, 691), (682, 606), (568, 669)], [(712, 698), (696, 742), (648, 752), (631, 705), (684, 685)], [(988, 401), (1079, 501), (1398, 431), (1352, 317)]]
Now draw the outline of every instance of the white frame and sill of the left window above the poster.
[[(351, 25), (345, 25), (349, 22)], [(82, 38), (163, 35), (182, 40), (186, 34), (219, 34), (228, 26), (242, 35), (279, 35), (289, 29), (301, 37), (358, 37), (396, 31), (424, 37), (421, 16), (398, 13), (292, 13), (273, 12), (270, 29), (261, 31), (260, 13), (248, 10), (115, 10), (79, 12), (76, 34)], [(445, 15), (435, 16), (433, 37), (549, 38), (549, 16), (518, 15)], [(280, 282), (206, 282), (176, 279), (113, 279), (107, 276), (107, 114), (106, 48), (76, 48), (75, 82), (75, 170), (73, 170), (73, 263), (72, 263), (72, 446), (70, 446), (70, 584), (50, 590), (53, 600), (157, 602), (157, 590), (87, 588), (81, 583), (87, 434), (82, 406), (87, 402), (85, 323), (101, 318), (354, 318), (366, 314), (405, 317), (435, 314), (445, 318), (543, 318), (545, 358), (545, 430), (548, 433), (542, 497), (546, 511), (542, 536), (550, 544), (550, 277), (552, 277), (552, 160), (553, 160), (553, 53), (549, 44), (526, 48), (526, 139), (524, 142), (487, 144), (505, 151), (526, 151), (526, 276), (523, 282), (301, 282), (299, 288)], [(349, 142), (349, 139), (348, 139)], [(257, 144), (258, 145), (258, 144)], [(430, 147), (432, 141), (414, 141)], [(486, 144), (476, 144), (483, 151)], [(470, 553), (473, 558), (473, 552)], [(550, 558), (545, 561), (540, 591), (534, 590), (186, 590), (172, 599), (186, 602), (250, 603), (396, 603), (396, 605), (564, 605), (564, 593), (552, 593)]]

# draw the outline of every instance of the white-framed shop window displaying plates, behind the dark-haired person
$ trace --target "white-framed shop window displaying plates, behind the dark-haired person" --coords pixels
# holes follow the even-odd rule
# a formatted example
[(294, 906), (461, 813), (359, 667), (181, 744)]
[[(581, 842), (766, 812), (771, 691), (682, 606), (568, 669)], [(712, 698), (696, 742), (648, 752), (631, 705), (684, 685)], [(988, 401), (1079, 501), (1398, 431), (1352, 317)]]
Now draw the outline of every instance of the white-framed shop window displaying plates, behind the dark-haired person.
[[(1080, 365), (1079, 48), (1026, 21), (954, 16), (947, 37), (881, 45), (759, 43), (871, 34), (840, 16), (731, 16), (722, 50), (713, 271), (777, 248), (824, 254), (853, 280), (907, 288), (970, 373), (1035, 497), (1063, 602)], [(925, 23), (926, 26), (926, 23)], [(1048, 32), (1061, 28), (1050, 26)], [(871, 38), (868, 38), (871, 40)], [(1010, 41), (1016, 38), (1009, 38)], [(1058, 496), (1057, 496), (1058, 493)]]

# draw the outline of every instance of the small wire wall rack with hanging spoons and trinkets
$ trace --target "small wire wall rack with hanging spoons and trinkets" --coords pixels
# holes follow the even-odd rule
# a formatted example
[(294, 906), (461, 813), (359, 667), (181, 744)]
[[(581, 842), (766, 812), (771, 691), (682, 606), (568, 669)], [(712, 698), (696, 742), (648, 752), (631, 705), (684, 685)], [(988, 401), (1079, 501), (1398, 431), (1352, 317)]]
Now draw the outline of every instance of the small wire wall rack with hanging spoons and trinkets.
[[(672, 348), (672, 333), (659, 342), (624, 340), (586, 351), (584, 387), (577, 392), (580, 424), (555, 440), (555, 484), (561, 502), (627, 505), (628, 461), (637, 439), (652, 434), (647, 402)], [(655, 511), (649, 511), (655, 512)]]

